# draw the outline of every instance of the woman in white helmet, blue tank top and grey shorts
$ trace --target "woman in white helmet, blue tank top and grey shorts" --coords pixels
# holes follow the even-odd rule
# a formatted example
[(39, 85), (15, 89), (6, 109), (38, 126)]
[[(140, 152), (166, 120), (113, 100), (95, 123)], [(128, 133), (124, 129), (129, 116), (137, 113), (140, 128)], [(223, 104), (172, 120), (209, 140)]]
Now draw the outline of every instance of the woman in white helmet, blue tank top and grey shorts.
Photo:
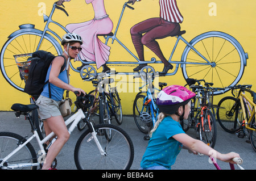
[[(69, 64), (67, 60), (76, 58), (81, 44), (81, 37), (75, 33), (67, 33), (63, 36), (61, 41), (61, 45), (64, 47), (63, 56), (55, 57), (47, 72), (46, 80), (49, 80), (50, 88), (47, 83), (38, 100), (36, 100), (40, 119), (44, 121), (46, 135), (54, 132), (57, 136), (57, 140), (53, 142), (48, 150), (42, 169), (51, 169), (53, 160), (69, 139), (68, 129), (59, 110), (59, 103), (63, 98), (64, 90), (78, 91), (79, 95), (81, 93), (85, 94), (84, 90), (73, 87), (68, 81)], [(60, 73), (61, 67), (64, 64), (66, 65), (65, 69)], [(49, 93), (49, 90), (51, 93)]]

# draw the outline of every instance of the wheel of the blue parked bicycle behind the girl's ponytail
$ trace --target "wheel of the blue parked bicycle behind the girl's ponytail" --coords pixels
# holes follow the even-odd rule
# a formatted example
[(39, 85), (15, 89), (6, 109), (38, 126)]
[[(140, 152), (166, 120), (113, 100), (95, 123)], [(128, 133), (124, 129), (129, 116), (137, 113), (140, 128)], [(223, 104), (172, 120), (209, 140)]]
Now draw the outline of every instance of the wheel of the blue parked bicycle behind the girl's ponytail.
[(143, 106), (145, 98), (146, 96), (143, 94), (139, 94), (135, 97), (133, 102), (133, 117), (137, 127), (139, 128), (139, 131), (146, 134), (152, 128), (153, 123), (152, 121), (150, 124), (144, 123), (143, 120), (139, 118), (142, 112), (146, 112), (151, 116), (149, 104)]

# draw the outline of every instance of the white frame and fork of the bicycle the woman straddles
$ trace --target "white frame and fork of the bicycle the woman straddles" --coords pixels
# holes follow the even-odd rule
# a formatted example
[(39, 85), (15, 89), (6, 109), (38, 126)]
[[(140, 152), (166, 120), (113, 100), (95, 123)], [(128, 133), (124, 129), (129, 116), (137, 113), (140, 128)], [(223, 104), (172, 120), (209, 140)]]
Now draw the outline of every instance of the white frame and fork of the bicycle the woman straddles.
[[(71, 124), (72, 125), (69, 127), (68, 132), (69, 134), (71, 134), (71, 132), (75, 129), (76, 125), (79, 123), (79, 121), (81, 119), (84, 119), (85, 115), (84, 112), (82, 112), (82, 109), (80, 108), (73, 116), (69, 117), (69, 119), (67, 119), (65, 121), (66, 125)], [(92, 123), (90, 123), (92, 125)], [(92, 125), (93, 128), (93, 125)], [(8, 169), (15, 169), (15, 168), (21, 168), (21, 167), (32, 167), (32, 166), (39, 166), (40, 163), (44, 162), (44, 159), (46, 158), (46, 151), (43, 148), (43, 144), (48, 141), (50, 138), (52, 138), (54, 136), (55, 133), (51, 132), (50, 134), (48, 134), (48, 136), (46, 136), (43, 140), (40, 140), (39, 136), (38, 136), (38, 132), (33, 131), (33, 135), (28, 138), (28, 140), (26, 142), (24, 142), (22, 145), (19, 145), (18, 148), (16, 148), (15, 150), (13, 150), (9, 155), (7, 155), (7, 157), (5, 157), (2, 160), (2, 163), (0, 164), (0, 167), (2, 167), (2, 169), (5, 169), (5, 167), (3, 166), (3, 163), (5, 163), (6, 161), (8, 161), (9, 158), (11, 158), (15, 153), (17, 153), (20, 149), (22, 149), (28, 142), (30, 142), (31, 140), (33, 140), (34, 138), (36, 138), (36, 141), (38, 142), (39, 145), (39, 152), (38, 154), (40, 154), (40, 157), (38, 158), (38, 163), (17, 163), (17, 164), (13, 164), (13, 165), (8, 165)], [(98, 149), (100, 150), (101, 155), (106, 155), (106, 152), (102, 149), (100, 142), (98, 141), (98, 138), (96, 137), (96, 132), (93, 128), (93, 132), (92, 132), (92, 137), (89, 139), (89, 141), (94, 140)], [(53, 143), (54, 141), (52, 140), (50, 145)]]

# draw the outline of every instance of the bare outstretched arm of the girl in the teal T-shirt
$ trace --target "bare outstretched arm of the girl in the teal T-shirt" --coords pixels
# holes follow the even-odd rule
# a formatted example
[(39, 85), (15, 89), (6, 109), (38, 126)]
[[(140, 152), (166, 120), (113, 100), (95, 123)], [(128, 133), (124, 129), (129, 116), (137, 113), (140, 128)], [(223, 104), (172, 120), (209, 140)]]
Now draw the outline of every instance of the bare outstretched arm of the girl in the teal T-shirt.
[(218, 151), (214, 150), (213, 148), (210, 148), (210, 146), (208, 146), (207, 144), (204, 144), (204, 142), (202, 142), (200, 140), (196, 140), (196, 139), (188, 136), (185, 133), (175, 134), (172, 137), (175, 140), (181, 142), (185, 148), (193, 151), (193, 153), (195, 153), (195, 152), (202, 153), (204, 155), (208, 155), (209, 157), (214, 156), (217, 159), (220, 159), (221, 161), (231, 162), (231, 163), (234, 163), (232, 161), (232, 158), (240, 157), (239, 154), (233, 153), (233, 152), (230, 152), (228, 154), (219, 153)]

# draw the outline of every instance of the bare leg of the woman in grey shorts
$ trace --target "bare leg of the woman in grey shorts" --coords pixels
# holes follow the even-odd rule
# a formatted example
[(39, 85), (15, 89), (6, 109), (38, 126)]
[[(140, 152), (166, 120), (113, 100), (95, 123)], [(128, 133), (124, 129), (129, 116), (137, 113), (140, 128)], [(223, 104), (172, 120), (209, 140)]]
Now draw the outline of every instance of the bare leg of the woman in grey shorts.
[(53, 131), (57, 136), (57, 140), (53, 142), (49, 148), (42, 170), (51, 167), (53, 160), (57, 157), (64, 144), (69, 139), (69, 132), (62, 116), (50, 117), (45, 121), (46, 123), (44, 123), (44, 125), (46, 125), (46, 133), (49, 134), (49, 132)]

